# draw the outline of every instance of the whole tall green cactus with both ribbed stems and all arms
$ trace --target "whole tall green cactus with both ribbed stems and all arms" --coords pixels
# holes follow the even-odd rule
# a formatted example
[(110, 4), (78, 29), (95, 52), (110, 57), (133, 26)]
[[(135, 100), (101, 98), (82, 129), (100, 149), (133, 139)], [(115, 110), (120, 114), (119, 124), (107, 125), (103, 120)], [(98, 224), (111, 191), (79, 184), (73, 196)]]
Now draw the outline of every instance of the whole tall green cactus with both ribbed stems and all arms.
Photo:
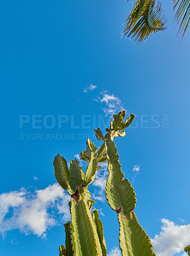
[[(113, 115), (110, 128), (103, 136), (101, 130), (95, 129), (96, 138), (103, 141), (103, 145), (95, 147), (91, 140), (87, 140), (87, 150), (82, 151), (80, 158), (89, 163), (84, 173), (77, 159), (71, 160), (70, 168), (64, 157), (55, 156), (54, 168), (57, 182), (71, 195), (69, 202), (71, 222), (64, 224), (66, 232), (66, 246), (59, 246), (60, 256), (106, 256), (106, 243), (103, 235), (103, 225), (99, 220), (98, 210), (91, 213), (91, 193), (89, 184), (94, 180), (98, 163), (108, 162), (108, 179), (106, 181), (106, 199), (117, 213), (119, 220), (119, 244), (122, 256), (156, 256), (152, 250), (150, 238), (136, 220), (133, 212), (136, 195), (128, 179), (124, 179), (119, 163), (119, 155), (113, 139), (125, 136), (124, 131), (133, 122), (135, 115), (125, 118), (125, 111)], [(97, 152), (98, 150), (98, 152)]]

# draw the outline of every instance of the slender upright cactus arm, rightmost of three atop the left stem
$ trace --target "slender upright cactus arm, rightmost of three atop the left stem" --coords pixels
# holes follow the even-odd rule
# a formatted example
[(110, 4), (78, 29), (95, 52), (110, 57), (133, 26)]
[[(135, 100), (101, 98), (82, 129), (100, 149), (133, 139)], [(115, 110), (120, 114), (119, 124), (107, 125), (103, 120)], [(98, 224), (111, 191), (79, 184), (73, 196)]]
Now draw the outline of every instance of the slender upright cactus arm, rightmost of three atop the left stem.
[(89, 139), (87, 140), (87, 151), (89, 152), (90, 159), (84, 177), (84, 186), (92, 183), (98, 166), (97, 147)]

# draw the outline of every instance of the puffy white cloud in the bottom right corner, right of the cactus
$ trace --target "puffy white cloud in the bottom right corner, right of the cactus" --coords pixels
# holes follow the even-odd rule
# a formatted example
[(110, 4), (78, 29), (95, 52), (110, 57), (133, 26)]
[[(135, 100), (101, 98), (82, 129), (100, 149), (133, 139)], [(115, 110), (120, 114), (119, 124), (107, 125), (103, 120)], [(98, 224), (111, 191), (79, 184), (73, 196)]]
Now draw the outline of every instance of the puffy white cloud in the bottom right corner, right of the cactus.
[(161, 232), (151, 240), (156, 255), (172, 256), (175, 253), (184, 253), (184, 247), (190, 244), (190, 224), (175, 225), (166, 219), (162, 219), (161, 222)]

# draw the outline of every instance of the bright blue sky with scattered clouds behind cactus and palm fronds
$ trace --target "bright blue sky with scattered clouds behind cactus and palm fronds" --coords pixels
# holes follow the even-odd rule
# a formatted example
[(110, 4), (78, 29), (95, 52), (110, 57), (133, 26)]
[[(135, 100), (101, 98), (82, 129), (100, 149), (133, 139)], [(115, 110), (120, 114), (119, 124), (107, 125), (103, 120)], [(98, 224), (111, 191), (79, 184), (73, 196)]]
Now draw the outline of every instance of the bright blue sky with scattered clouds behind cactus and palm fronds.
[[(54, 156), (78, 157), (87, 136), (99, 146), (94, 128), (105, 129), (110, 109), (122, 108), (136, 115), (115, 143), (136, 191), (138, 221), (158, 256), (183, 255), (190, 243), (189, 29), (180, 44), (168, 1), (168, 29), (139, 46), (121, 38), (130, 7), (126, 1), (1, 3), (0, 255), (59, 255), (69, 198), (55, 184)], [(90, 189), (108, 253), (118, 256), (105, 179), (102, 166)]]

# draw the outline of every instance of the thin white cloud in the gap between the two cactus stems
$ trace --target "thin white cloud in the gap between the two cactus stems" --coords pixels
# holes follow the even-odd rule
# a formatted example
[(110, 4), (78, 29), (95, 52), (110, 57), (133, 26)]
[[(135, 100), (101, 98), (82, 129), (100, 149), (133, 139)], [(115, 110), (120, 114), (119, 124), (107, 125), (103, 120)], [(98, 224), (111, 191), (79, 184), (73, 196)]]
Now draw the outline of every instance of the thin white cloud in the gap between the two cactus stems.
[(108, 163), (99, 163), (100, 170), (96, 172), (94, 182), (92, 183), (98, 189), (95, 189), (92, 198), (95, 200), (99, 200), (101, 202), (105, 202), (105, 187), (106, 187), (106, 179), (108, 176)]

